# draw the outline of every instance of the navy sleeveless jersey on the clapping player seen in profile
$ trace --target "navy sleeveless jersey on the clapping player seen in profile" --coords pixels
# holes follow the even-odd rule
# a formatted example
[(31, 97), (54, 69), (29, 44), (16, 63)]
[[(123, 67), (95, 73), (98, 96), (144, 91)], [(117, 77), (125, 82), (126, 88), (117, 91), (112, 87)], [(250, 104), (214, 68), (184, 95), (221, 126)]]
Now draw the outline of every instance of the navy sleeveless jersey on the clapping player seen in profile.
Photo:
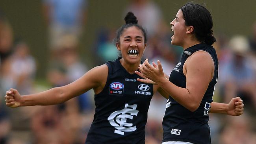
[(208, 112), (212, 101), (213, 91), (218, 77), (218, 59), (215, 49), (205, 43), (196, 44), (184, 50), (180, 62), (171, 72), (169, 81), (178, 87), (186, 88), (186, 76), (183, 73), (183, 65), (186, 59), (198, 50), (208, 52), (213, 58), (215, 72), (213, 79), (195, 112), (191, 112), (171, 96), (167, 100), (165, 116), (163, 117), (163, 142), (185, 141), (194, 144), (211, 144), (210, 127), (208, 126)]

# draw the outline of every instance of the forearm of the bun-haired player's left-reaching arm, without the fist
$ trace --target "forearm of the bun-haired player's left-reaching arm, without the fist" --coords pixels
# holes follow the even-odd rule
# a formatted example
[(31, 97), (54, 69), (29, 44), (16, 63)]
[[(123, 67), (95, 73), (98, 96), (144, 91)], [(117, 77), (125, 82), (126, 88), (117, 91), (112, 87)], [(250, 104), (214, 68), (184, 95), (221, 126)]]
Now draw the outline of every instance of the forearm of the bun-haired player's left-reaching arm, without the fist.
[(21, 96), (20, 106), (32, 105), (55, 105), (68, 100), (65, 98), (64, 91), (61, 87), (52, 88), (37, 94)]

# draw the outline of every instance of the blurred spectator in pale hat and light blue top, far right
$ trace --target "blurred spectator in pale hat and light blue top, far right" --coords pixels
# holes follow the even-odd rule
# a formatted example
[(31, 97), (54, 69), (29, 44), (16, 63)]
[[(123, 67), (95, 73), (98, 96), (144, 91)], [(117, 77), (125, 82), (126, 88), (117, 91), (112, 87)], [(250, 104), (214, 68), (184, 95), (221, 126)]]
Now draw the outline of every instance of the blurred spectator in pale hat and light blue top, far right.
[(243, 36), (234, 36), (229, 42), (232, 50), (232, 57), (220, 70), (220, 77), (223, 80), (224, 102), (235, 96), (240, 96), (246, 107), (255, 111), (256, 91), (255, 75), (252, 69), (252, 62), (247, 58), (250, 51), (249, 43)]

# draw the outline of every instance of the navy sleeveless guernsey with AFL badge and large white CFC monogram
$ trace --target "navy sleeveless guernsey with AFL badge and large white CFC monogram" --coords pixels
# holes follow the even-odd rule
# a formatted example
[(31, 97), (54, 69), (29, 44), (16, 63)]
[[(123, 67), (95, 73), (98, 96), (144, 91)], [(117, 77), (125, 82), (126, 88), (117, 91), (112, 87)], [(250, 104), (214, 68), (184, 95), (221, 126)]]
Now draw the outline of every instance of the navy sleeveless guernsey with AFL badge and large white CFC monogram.
[(95, 115), (85, 144), (145, 144), (145, 125), (153, 85), (137, 81), (118, 58), (108, 61), (108, 79), (95, 94)]

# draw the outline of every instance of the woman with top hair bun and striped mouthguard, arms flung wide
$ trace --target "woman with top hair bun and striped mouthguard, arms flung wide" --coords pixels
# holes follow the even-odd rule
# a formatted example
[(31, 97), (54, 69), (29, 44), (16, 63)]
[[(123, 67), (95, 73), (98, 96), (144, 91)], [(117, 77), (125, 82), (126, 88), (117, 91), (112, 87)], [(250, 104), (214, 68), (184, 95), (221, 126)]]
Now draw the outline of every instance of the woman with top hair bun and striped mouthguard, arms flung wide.
[(138, 25), (132, 12), (124, 18), (126, 24), (117, 30), (115, 44), (120, 57), (96, 66), (81, 78), (37, 94), (20, 96), (15, 89), (6, 92), (6, 105), (55, 105), (93, 89), (95, 115), (86, 138), (86, 144), (145, 144), (147, 112), (158, 85), (137, 81), (135, 70), (142, 64), (141, 57), (147, 45), (145, 30)]

